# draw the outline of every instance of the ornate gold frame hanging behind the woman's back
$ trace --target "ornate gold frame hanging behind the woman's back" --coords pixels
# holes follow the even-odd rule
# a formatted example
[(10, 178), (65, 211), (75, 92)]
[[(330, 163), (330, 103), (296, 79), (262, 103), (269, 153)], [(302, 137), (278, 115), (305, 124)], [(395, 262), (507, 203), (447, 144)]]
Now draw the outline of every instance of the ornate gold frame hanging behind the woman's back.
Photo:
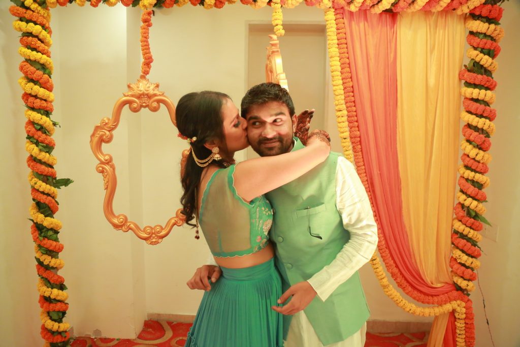
[[(117, 176), (115, 175), (115, 164), (112, 161), (112, 156), (102, 151), (102, 145), (112, 142), (112, 132), (118, 127), (121, 119), (121, 111), (128, 105), (132, 112), (139, 112), (142, 108), (148, 108), (152, 112), (157, 112), (161, 104), (163, 104), (168, 113), (173, 125), (177, 126), (175, 121), (175, 106), (164, 92), (159, 91), (159, 83), (151, 83), (146, 76), (141, 75), (136, 83), (128, 84), (128, 92), (123, 93), (118, 101), (115, 102), (112, 110), (112, 118), (103, 118), (99, 124), (94, 127), (92, 135), (90, 135), (90, 148), (94, 156), (99, 161), (96, 165), (96, 171), (103, 175), (103, 189), (105, 192), (105, 200), (103, 201), (103, 212), (107, 217), (108, 222), (116, 230), (123, 230), (127, 232), (132, 230), (137, 237), (145, 240), (149, 245), (157, 245), (172, 231), (172, 228), (181, 226), (186, 221), (186, 217), (181, 213), (182, 209), (178, 209), (175, 217), (171, 217), (166, 225), (145, 226), (140, 228), (135, 222), (128, 221), (126, 214), (114, 214), (113, 200), (115, 195), (115, 188), (117, 187)], [(186, 150), (185, 150), (186, 151)], [(183, 152), (183, 159), (187, 153)]]

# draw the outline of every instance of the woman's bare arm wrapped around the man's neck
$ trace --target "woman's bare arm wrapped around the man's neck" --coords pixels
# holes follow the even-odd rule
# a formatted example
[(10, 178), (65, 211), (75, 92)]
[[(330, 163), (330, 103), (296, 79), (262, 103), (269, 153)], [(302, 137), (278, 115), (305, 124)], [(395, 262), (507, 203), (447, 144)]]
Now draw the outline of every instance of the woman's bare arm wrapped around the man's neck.
[(308, 145), (303, 149), (237, 164), (233, 174), (237, 194), (251, 201), (314, 169), (330, 153), (330, 143), (321, 136), (309, 135)]

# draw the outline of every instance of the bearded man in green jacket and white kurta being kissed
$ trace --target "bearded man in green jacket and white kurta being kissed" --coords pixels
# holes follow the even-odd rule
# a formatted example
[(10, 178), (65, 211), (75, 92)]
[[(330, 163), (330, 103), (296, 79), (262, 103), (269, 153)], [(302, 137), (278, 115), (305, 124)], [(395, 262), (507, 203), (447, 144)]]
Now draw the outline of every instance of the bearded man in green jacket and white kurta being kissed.
[[(242, 99), (251, 147), (261, 156), (303, 148), (293, 137), (297, 116), (289, 93), (262, 83)], [(362, 347), (369, 316), (358, 269), (378, 241), (370, 203), (354, 166), (339, 153), (267, 194), (274, 209), (270, 240), (284, 293), (272, 309), (284, 314), (289, 347)], [(218, 268), (205, 265), (188, 282), (207, 289)], [(287, 302), (290, 299), (289, 302)], [(292, 317), (292, 320), (291, 320)]]

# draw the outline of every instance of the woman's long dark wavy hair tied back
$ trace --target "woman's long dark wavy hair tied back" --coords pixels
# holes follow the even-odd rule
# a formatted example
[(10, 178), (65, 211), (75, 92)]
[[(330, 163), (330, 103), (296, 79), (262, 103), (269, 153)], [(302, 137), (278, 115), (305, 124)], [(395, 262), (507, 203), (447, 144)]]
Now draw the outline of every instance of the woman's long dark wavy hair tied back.
[[(230, 97), (224, 93), (204, 91), (189, 93), (181, 97), (175, 108), (175, 118), (180, 134), (197, 140), (191, 143), (191, 150), (199, 159), (206, 159), (211, 155), (211, 150), (204, 147), (210, 140), (220, 140), (225, 144), (224, 126), (222, 120), (222, 106)], [(213, 161), (224, 168), (220, 161)], [(191, 153), (189, 153), (184, 168), (184, 174), (180, 177), (183, 186), (183, 196), (180, 203), (183, 205), (183, 214), (186, 215), (186, 224), (190, 223), (197, 213), (197, 187), (200, 184), (202, 171)]]

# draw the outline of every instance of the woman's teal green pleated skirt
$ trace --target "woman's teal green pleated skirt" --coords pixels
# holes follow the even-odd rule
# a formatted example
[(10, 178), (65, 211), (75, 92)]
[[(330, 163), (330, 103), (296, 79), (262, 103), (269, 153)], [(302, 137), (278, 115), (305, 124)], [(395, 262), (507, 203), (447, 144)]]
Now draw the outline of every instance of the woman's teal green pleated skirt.
[(272, 259), (246, 268), (222, 267), (222, 276), (204, 292), (185, 346), (282, 347), (282, 315), (271, 309), (281, 294)]

